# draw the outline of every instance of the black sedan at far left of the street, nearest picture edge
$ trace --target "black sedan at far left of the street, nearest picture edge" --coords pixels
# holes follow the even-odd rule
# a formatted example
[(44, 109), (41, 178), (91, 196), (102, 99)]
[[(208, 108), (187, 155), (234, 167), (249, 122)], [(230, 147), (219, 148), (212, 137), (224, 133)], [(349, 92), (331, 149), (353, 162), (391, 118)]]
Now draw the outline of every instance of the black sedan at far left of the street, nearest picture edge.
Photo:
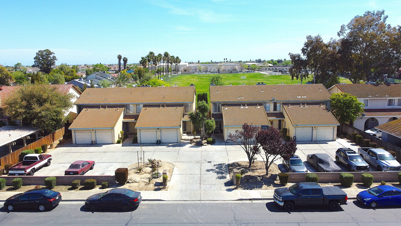
[(61, 201), (61, 194), (45, 188), (31, 189), (24, 193), (13, 195), (4, 201), (4, 209), (37, 209), (45, 211), (53, 208)]

